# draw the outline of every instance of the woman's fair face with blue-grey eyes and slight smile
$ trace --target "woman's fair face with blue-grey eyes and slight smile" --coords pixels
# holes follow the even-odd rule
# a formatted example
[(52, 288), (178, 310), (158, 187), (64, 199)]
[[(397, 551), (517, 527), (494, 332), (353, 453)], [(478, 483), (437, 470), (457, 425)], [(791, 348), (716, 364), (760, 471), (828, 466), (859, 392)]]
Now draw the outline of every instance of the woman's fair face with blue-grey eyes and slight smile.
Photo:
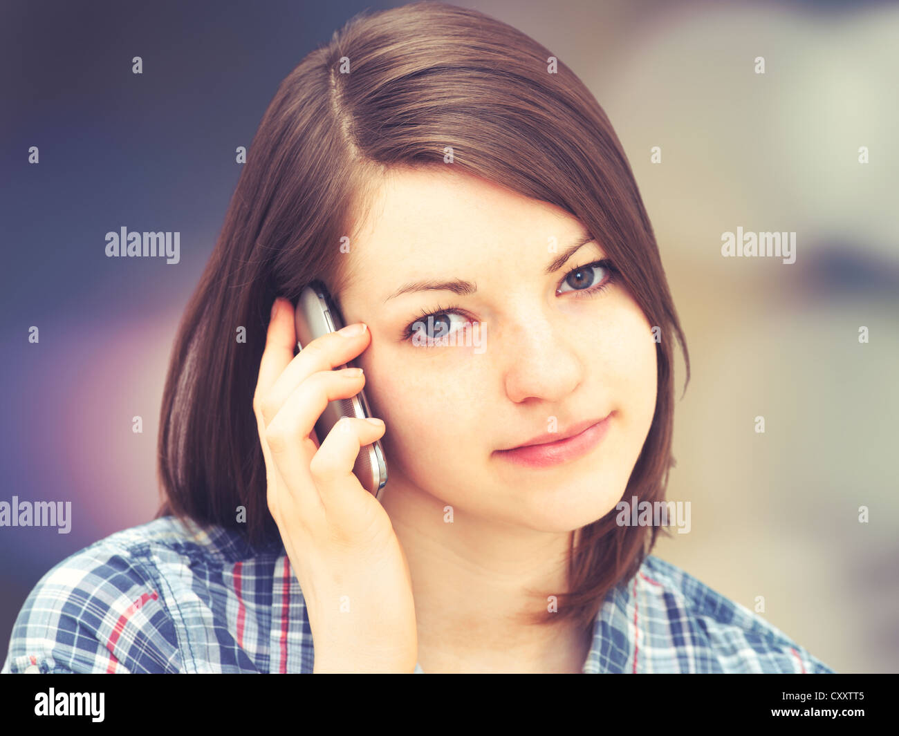
[[(655, 343), (618, 281), (585, 293), (609, 281), (609, 270), (584, 268), (606, 257), (600, 244), (547, 275), (582, 235), (564, 210), (451, 165), (387, 176), (343, 256), (339, 295), (347, 324), (371, 330), (357, 364), (387, 423), (387, 493), (426, 492), (457, 512), (547, 532), (581, 528), (618, 503), (653, 418)], [(455, 279), (476, 291), (391, 297)], [(404, 335), (416, 322), (418, 338), (449, 344), (415, 344)], [(607, 416), (601, 441), (560, 464), (521, 466), (498, 452)]]

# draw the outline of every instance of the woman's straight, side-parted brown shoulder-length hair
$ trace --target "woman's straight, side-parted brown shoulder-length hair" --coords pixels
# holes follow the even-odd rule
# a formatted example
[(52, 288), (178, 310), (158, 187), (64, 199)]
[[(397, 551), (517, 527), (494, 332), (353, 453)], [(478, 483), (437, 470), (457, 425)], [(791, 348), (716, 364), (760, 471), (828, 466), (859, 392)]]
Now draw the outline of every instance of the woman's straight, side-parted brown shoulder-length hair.
[[(589, 90), (539, 43), (475, 10), (426, 2), (353, 17), (281, 82), (265, 111), (174, 343), (157, 518), (231, 528), (251, 544), (280, 538), (252, 407), (272, 302), (296, 303), (316, 278), (339, 299), (340, 238), (353, 232), (378, 173), (431, 165), (458, 166), (577, 217), (660, 328), (654, 418), (625, 495), (663, 500), (673, 466), (672, 338), (686, 382), (690, 359), (619, 139)], [(240, 326), (245, 342), (236, 340)], [(636, 574), (659, 528), (620, 527), (615, 517), (611, 510), (582, 528), (576, 545), (572, 534), (569, 592), (557, 594), (557, 613), (534, 620), (586, 628), (605, 594)]]

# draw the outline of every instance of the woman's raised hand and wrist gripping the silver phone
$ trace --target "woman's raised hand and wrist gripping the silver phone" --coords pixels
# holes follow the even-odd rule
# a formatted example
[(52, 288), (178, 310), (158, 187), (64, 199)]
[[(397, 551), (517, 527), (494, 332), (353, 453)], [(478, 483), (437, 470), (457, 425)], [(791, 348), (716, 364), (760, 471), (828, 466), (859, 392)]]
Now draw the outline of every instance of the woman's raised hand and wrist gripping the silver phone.
[(387, 511), (352, 473), (384, 422), (344, 418), (321, 442), (315, 431), (329, 401), (362, 389), (355, 368), (332, 368), (369, 340), (368, 328), (330, 333), (294, 357), (293, 307), (278, 298), (253, 397), (269, 511), (306, 599), (315, 672), (412, 672), (418, 655), (405, 553)]

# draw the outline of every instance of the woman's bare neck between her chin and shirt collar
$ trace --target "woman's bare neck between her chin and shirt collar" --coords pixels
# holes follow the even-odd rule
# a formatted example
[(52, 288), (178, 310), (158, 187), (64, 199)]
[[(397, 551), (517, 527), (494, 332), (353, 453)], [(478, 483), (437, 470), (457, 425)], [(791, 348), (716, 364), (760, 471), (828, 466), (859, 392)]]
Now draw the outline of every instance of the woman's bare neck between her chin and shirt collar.
[(566, 590), (570, 532), (492, 525), (391, 483), (382, 502), (409, 563), (425, 672), (582, 670), (592, 632), (527, 620)]

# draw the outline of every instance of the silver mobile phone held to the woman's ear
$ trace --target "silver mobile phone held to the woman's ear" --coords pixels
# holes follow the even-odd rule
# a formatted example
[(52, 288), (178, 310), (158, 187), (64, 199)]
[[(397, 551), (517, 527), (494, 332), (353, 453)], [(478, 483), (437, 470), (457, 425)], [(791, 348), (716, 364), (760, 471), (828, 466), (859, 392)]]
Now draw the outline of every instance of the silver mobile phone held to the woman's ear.
[[(316, 337), (335, 333), (343, 327), (343, 318), (324, 283), (316, 279), (303, 289), (294, 313), (294, 323), (297, 325), (299, 350), (303, 350), (303, 346), (308, 345)], [(337, 366), (334, 370), (346, 368), (347, 365)], [(319, 442), (323, 442), (334, 424), (342, 417), (365, 419), (370, 416), (371, 410), (364, 390), (349, 399), (335, 399), (328, 402), (325, 411), (316, 421), (316, 437)], [(372, 493), (379, 501), (384, 486), (387, 485), (387, 460), (378, 439), (360, 448), (352, 472), (359, 479), (362, 488)]]

